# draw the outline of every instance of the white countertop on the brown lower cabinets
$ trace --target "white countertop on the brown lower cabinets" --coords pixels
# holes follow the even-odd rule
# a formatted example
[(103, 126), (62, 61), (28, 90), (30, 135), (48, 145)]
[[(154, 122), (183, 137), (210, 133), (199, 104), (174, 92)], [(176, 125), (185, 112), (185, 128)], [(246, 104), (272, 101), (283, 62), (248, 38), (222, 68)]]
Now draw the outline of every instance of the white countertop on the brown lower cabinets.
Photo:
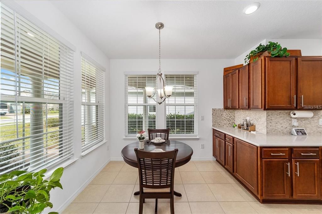
[(322, 146), (322, 135), (294, 136), (294, 135), (266, 135), (251, 133), (242, 129), (232, 127), (213, 127), (232, 137), (241, 139), (260, 147), (316, 147)]

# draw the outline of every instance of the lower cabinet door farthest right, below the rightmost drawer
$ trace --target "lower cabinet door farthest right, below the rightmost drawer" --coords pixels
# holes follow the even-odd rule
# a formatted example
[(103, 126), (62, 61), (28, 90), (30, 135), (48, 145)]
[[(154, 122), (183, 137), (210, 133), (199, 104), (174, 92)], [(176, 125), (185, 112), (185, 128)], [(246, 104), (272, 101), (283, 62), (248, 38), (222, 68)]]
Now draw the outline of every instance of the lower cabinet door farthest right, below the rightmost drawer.
[(293, 159), (293, 198), (321, 198), (319, 167), (319, 159)]

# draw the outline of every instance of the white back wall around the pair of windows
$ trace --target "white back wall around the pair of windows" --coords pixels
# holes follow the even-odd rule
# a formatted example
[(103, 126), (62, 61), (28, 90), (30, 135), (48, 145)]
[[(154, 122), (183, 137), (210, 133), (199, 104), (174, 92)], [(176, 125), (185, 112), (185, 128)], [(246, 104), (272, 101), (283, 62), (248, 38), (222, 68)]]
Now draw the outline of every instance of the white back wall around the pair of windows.
[[(198, 71), (198, 136), (199, 140), (180, 140), (194, 150), (193, 159), (212, 159), (212, 108), (223, 108), (223, 68), (233, 59), (161, 59), (163, 71)], [(124, 72), (153, 71), (158, 59), (110, 59), (110, 131), (111, 160), (122, 160), (121, 150), (129, 143), (124, 137)], [(164, 105), (164, 104), (161, 104)], [(200, 116), (204, 115), (204, 120)], [(204, 149), (200, 144), (204, 143)]]

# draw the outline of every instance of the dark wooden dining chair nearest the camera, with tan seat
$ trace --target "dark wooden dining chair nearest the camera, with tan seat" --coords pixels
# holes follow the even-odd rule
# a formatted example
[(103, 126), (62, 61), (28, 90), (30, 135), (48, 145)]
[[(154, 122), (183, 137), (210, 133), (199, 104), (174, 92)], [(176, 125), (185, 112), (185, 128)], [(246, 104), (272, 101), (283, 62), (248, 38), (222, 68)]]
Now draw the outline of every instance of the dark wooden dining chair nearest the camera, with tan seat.
[(170, 199), (170, 211), (174, 214), (173, 183), (178, 149), (168, 152), (149, 152), (135, 148), (134, 151), (137, 156), (140, 181), (139, 214), (143, 213), (143, 203), (146, 198), (156, 199), (155, 213), (157, 213), (159, 198)]

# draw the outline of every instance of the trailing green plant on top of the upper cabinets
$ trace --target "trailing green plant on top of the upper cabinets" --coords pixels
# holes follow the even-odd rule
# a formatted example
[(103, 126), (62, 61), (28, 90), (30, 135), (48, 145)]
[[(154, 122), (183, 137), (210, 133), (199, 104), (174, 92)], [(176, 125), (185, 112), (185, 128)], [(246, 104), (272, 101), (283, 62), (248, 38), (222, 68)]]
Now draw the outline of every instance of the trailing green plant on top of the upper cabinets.
[[(270, 53), (271, 57), (289, 57), (289, 52), (287, 52), (287, 48), (282, 48), (278, 42), (269, 41), (267, 45), (262, 45), (260, 43), (260, 45), (257, 46), (257, 48), (255, 48), (248, 55), (246, 55), (246, 58), (244, 59), (245, 64), (248, 64), (250, 62), (249, 60), (251, 59), (251, 57), (258, 56), (261, 53), (264, 53), (265, 51)], [(254, 58), (253, 62), (255, 62), (257, 59), (258, 57)]]

